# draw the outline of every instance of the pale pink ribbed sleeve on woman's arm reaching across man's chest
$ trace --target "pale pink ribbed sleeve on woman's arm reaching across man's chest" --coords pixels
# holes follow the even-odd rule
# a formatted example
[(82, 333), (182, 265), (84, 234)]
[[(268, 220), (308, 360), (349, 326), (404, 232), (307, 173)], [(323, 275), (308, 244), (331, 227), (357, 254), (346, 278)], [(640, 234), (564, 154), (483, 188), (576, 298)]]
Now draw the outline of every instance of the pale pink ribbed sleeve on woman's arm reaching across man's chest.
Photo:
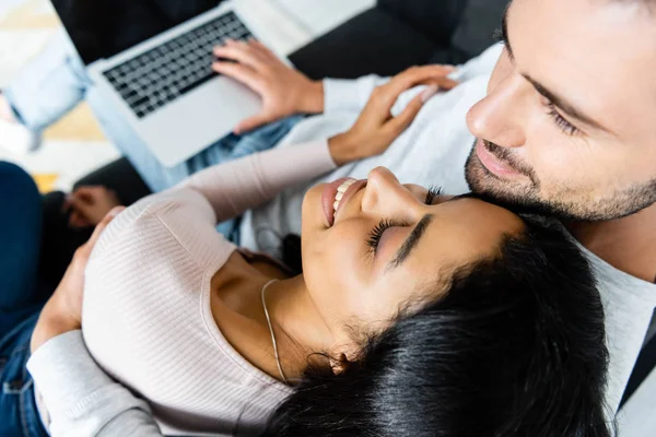
[(242, 215), (283, 189), (336, 168), (326, 140), (273, 149), (204, 169), (173, 190), (185, 188), (208, 200), (216, 222)]

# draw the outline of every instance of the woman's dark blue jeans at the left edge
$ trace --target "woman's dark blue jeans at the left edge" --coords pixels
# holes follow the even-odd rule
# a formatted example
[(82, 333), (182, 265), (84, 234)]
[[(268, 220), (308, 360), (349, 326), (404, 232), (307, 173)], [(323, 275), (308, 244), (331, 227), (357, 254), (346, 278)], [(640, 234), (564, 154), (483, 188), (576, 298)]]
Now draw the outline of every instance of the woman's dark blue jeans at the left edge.
[(0, 162), (0, 436), (47, 436), (25, 364), (45, 304), (37, 270), (42, 200), (30, 175)]

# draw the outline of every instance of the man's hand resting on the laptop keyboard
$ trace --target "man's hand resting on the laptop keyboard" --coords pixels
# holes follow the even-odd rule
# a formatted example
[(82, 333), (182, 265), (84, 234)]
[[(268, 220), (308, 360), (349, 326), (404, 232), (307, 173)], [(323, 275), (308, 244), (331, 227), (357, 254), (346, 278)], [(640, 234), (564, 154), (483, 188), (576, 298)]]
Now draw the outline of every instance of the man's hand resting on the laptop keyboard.
[(226, 59), (212, 64), (215, 72), (244, 83), (262, 98), (262, 110), (242, 121), (234, 129), (235, 133), (241, 134), (294, 114), (324, 111), (324, 84), (311, 81), (288, 67), (259, 42), (226, 40), (224, 46), (214, 48), (214, 55)]

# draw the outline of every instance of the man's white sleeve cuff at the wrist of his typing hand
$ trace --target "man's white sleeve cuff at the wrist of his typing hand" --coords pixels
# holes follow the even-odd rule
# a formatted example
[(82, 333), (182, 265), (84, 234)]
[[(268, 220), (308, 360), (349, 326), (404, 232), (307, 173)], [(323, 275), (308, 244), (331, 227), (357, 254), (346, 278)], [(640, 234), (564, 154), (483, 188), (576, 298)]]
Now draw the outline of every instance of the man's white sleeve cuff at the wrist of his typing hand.
[(356, 80), (324, 80), (324, 113), (362, 113), (374, 88), (389, 82), (390, 78), (366, 75)]

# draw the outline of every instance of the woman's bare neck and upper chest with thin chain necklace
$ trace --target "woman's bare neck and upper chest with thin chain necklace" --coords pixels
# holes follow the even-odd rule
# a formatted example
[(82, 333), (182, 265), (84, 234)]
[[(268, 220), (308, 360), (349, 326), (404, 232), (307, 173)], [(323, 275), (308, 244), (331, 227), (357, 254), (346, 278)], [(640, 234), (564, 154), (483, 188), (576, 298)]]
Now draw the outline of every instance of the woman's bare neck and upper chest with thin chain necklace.
[(232, 346), (273, 378), (278, 370), (261, 292), (288, 380), (300, 379), (314, 353), (329, 351), (333, 336), (317, 311), (302, 275), (255, 267), (235, 253), (212, 279), (212, 315)]

